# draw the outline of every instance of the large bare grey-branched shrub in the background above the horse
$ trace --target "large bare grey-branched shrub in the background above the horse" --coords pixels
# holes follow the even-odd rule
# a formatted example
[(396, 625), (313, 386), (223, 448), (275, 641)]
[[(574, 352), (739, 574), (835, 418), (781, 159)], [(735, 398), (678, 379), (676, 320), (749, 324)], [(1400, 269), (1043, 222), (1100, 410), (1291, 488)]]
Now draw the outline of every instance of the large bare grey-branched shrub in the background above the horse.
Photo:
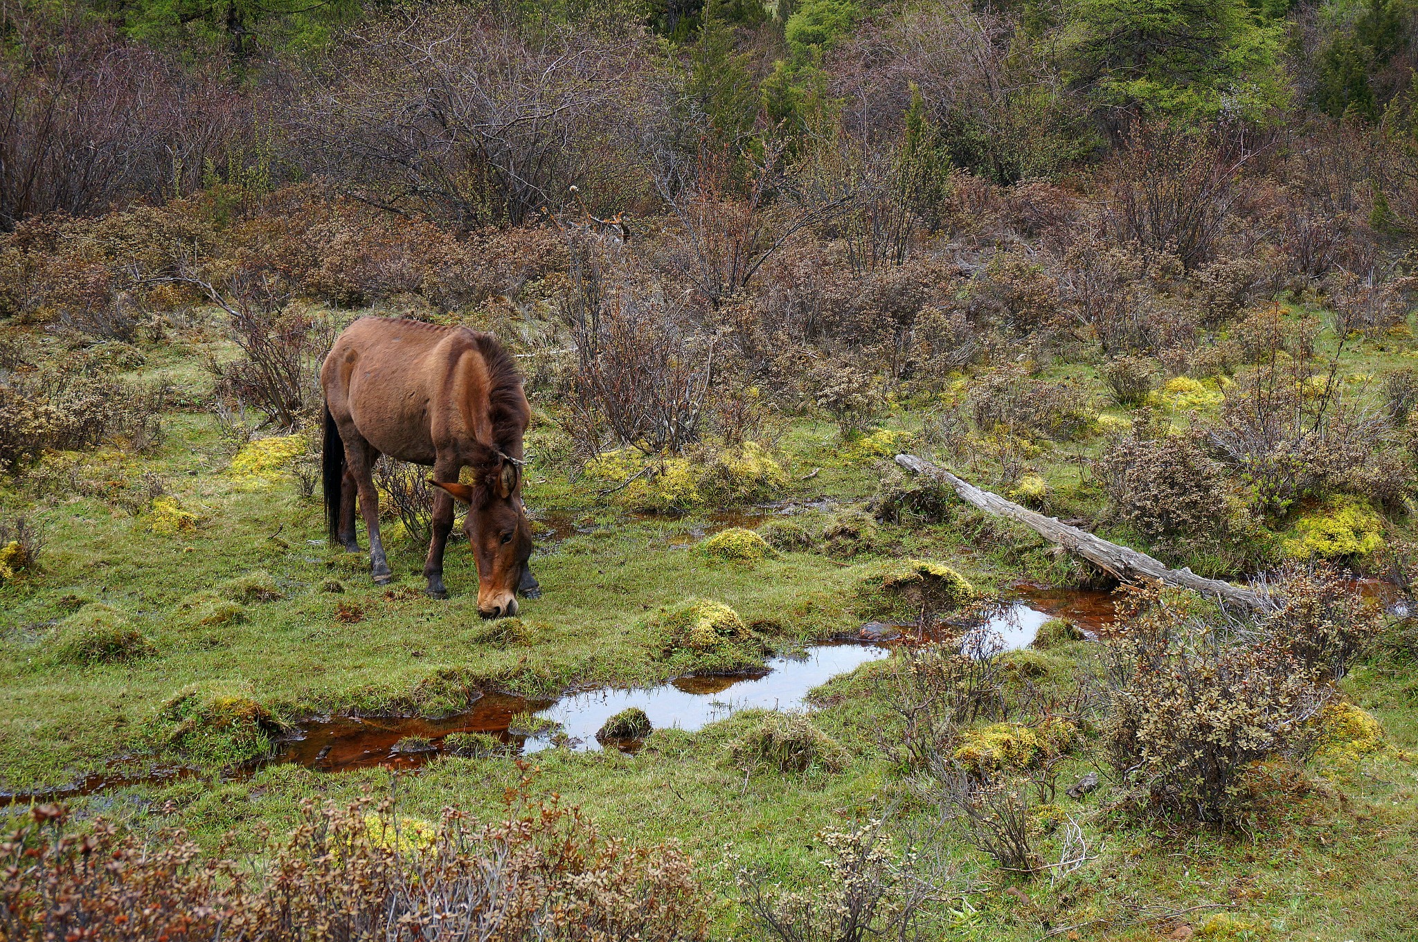
[(623, 207), (649, 183), (637, 132), (664, 82), (642, 30), (613, 16), (518, 24), (458, 6), (352, 27), (308, 103), (312, 170), (362, 200), (459, 229), (527, 222), (569, 188)]

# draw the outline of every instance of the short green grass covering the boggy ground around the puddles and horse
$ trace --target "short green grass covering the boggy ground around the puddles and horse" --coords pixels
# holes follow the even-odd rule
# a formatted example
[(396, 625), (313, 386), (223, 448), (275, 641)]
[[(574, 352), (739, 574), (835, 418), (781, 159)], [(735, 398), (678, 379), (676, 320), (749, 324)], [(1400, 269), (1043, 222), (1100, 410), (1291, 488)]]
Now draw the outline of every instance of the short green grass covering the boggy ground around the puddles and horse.
[[(1411, 363), (1405, 346), (1385, 346), (1346, 351), (1344, 368), (1381, 373)], [(177, 382), (196, 401), (210, 380), (194, 350), (152, 347), (142, 375)], [(1092, 367), (1058, 367), (1051, 375), (1096, 384)], [(899, 407), (886, 425), (916, 435), (927, 408)], [(174, 721), (163, 718), (164, 704), (190, 688), (208, 700), (228, 697), (221, 701), (228, 707), (244, 708), (250, 697), (286, 722), (337, 711), (441, 714), (478, 690), (556, 694), (662, 681), (674, 669), (651, 654), (648, 619), (691, 596), (720, 601), (773, 643), (793, 646), (859, 623), (852, 591), (881, 557), (940, 560), (986, 594), (1018, 577), (1071, 572), (1028, 534), (963, 511), (940, 526), (882, 527), (872, 555), (716, 560), (685, 547), (700, 538), (696, 531), (725, 518), (635, 516), (573, 480), (569, 467), (535, 466), (526, 493), (533, 511), (596, 528), (542, 541), (533, 567), (545, 595), (525, 603), (520, 630), (498, 630), (478, 618), (467, 547), (448, 551), (448, 601), (423, 596), (424, 547), (408, 540), (390, 545), (396, 584), (374, 586), (366, 557), (323, 545), (319, 503), (301, 499), (294, 477), (259, 486), (228, 473), (231, 452), (203, 412), (173, 412), (167, 428), (164, 445), (146, 458), (99, 450), (48, 456), (44, 467), (72, 466), (81, 480), (116, 482), (119, 490), (157, 473), (200, 517), (194, 531), (152, 533), (146, 514), (75, 493), (62, 475), (40, 490), (7, 484), (0, 492), (9, 513), (30, 513), (47, 534), (43, 572), (0, 588), (0, 783), (37, 789), (115, 764), (196, 764), (196, 778), (111, 789), (75, 805), (136, 827), (182, 826), (213, 847), (228, 830), (240, 844), (257, 824), (294, 822), (303, 799), (343, 802), (366, 790), (393, 789), (403, 813), (424, 817), (445, 806), (493, 813), (522, 769), (512, 758), (448, 758), (401, 773), (396, 783), (381, 769), (325, 775), (274, 765), (221, 782), (227, 754), (174, 747)], [(535, 436), (550, 439), (554, 432), (540, 428)], [(831, 425), (783, 421), (773, 438), (790, 482), (781, 499), (848, 503), (875, 492), (881, 467), (844, 445)], [(1095, 438), (1078, 452), (1086, 459), (1100, 448)], [(1049, 513), (1098, 510), (1100, 496), (1079, 487), (1072, 445), (1045, 452), (1037, 465), (1049, 483)], [(817, 476), (804, 480), (814, 469)], [(825, 520), (820, 513), (800, 518), (817, 530)], [(279, 598), (251, 598), (240, 609), (228, 606), (235, 618), (201, 623), (194, 612), (203, 599), (257, 571), (269, 574)], [(332, 579), (343, 592), (326, 591)], [(58, 659), (55, 625), (88, 602), (122, 613), (156, 653), (115, 663)], [(1051, 671), (1076, 670), (1090, 650), (1079, 643), (1051, 649)], [(754, 938), (730, 902), (726, 854), (790, 885), (807, 885), (821, 878), (822, 829), (845, 829), (888, 810), (919, 815), (888, 756), (899, 735), (882, 696), (889, 669), (873, 663), (820, 690), (814, 724), (851, 755), (841, 772), (736, 765), (732, 745), (757, 722), (736, 715), (696, 734), (657, 731), (635, 756), (614, 749), (537, 754), (533, 789), (580, 805), (610, 834), (679, 841), (718, 895), (715, 936)], [(1083, 802), (1059, 799), (1083, 823), (1095, 858), (1058, 885), (1003, 877), (953, 839), (949, 853), (970, 885), (968, 907), (953, 917), (953, 938), (1022, 941), (1041, 938), (1045, 926), (1078, 926), (1082, 939), (1156, 939), (1174, 922), (1160, 917), (1211, 904), (1227, 908), (1178, 918), (1200, 928), (1211, 912), (1229, 914), (1239, 922), (1207, 936), (1222, 939), (1415, 938), (1418, 773), (1409, 754), (1418, 749), (1418, 693), (1411, 677), (1408, 663), (1374, 659), (1360, 666), (1346, 691), (1383, 721), (1394, 748), (1354, 766), (1312, 768), (1310, 785), (1275, 800), (1249, 832), (1139, 827), (1099, 809), (1105, 785), (1103, 795)], [(1068, 761), (1061, 782), (1090, 768), (1085, 749)], [(1028, 902), (1004, 892), (1011, 884)]]

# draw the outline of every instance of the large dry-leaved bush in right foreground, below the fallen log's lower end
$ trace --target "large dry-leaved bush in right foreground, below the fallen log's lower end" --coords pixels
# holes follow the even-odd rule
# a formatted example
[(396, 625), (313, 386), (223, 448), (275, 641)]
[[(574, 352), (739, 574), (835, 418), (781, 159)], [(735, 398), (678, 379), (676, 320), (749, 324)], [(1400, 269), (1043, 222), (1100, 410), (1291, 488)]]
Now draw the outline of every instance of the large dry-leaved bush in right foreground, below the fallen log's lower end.
[(1107, 646), (1107, 759), (1136, 789), (1139, 815), (1236, 823), (1249, 810), (1251, 766), (1303, 759), (1333, 691), (1283, 643), (1236, 636), (1197, 601), (1147, 592), (1134, 602)]

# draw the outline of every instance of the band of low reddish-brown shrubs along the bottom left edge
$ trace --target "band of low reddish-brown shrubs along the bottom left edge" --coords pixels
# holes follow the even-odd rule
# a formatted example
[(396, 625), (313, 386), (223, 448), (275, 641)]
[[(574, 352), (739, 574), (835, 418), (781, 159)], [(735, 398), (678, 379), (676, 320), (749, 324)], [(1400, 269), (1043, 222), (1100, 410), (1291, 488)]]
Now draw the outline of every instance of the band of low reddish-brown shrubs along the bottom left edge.
[[(699, 939), (702, 891), (674, 846), (603, 839), (576, 810), (532, 802), (506, 817), (438, 823), (389, 803), (306, 800), (288, 837), (208, 858), (183, 832), (156, 840), (41, 805), (3, 846), (7, 939), (384, 938)], [(254, 870), (247, 861), (267, 858)]]

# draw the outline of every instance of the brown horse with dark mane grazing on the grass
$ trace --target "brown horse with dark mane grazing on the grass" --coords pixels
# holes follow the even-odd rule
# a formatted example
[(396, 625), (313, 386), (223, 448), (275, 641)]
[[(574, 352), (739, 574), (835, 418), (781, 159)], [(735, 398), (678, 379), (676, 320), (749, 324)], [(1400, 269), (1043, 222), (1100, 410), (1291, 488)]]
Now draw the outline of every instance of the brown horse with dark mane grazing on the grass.
[[(452, 501), (468, 504), (464, 533), (478, 562), (478, 612), (515, 615), (516, 594), (539, 591), (527, 558), (532, 527), (522, 503), (522, 436), (530, 408), (516, 364), (492, 334), (417, 320), (360, 317), (339, 336), (320, 368), (325, 388), (325, 510), (330, 543), (359, 552), (354, 496), (369, 528), (374, 582), (393, 578), (379, 538), (372, 469), (389, 455), (431, 465), (432, 541), (428, 595), (448, 598), (442, 557)], [(458, 483), (462, 467), (476, 483)]]

